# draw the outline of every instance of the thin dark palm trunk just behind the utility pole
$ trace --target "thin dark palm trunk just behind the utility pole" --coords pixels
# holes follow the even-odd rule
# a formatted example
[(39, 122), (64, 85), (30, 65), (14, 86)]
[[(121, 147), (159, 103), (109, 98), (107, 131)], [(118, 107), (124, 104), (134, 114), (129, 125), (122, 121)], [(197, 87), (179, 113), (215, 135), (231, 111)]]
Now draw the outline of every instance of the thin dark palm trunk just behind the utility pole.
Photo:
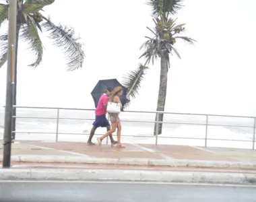
[[(18, 61), (18, 43), (19, 43), (19, 33), (21, 24), (17, 24), (16, 27), (16, 42), (15, 42), (15, 71), (14, 71), (14, 88), (13, 88), (13, 105), (17, 104), (17, 61)], [(16, 108), (13, 108), (13, 116), (16, 116)], [(16, 131), (16, 118), (13, 118), (11, 131)], [(15, 139), (15, 133), (11, 133), (12, 139)]]

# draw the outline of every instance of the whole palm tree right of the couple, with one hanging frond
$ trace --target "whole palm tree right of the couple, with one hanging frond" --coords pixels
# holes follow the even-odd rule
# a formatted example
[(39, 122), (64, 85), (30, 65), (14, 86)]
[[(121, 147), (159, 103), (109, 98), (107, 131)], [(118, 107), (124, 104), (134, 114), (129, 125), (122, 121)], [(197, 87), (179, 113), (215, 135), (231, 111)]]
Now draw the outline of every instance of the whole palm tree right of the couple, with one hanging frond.
[[(156, 27), (154, 31), (148, 28), (154, 33), (154, 38), (147, 37), (148, 40), (141, 46), (146, 48), (145, 53), (141, 57), (146, 57), (146, 63), (139, 65), (135, 71), (131, 71), (125, 78), (124, 86), (129, 89), (128, 95), (133, 98), (139, 94), (140, 83), (146, 74), (148, 67), (146, 65), (157, 57), (161, 58), (161, 73), (160, 73), (160, 87), (158, 92), (158, 106), (157, 110), (164, 111), (165, 100), (166, 100), (166, 88), (167, 88), (167, 72), (170, 67), (169, 54), (174, 53), (180, 55), (174, 48), (173, 44), (176, 43), (176, 39), (182, 39), (190, 44), (193, 44), (195, 40), (188, 38), (187, 36), (179, 36), (181, 32), (185, 30), (184, 25), (176, 25), (171, 18), (168, 16), (174, 15), (183, 7), (183, 0), (149, 0), (148, 5), (152, 7), (152, 16)], [(140, 57), (140, 58), (141, 58)], [(163, 121), (163, 114), (159, 115), (159, 121)], [(156, 124), (154, 127), (154, 135), (162, 133), (162, 123), (159, 124), (158, 131), (156, 131)]]

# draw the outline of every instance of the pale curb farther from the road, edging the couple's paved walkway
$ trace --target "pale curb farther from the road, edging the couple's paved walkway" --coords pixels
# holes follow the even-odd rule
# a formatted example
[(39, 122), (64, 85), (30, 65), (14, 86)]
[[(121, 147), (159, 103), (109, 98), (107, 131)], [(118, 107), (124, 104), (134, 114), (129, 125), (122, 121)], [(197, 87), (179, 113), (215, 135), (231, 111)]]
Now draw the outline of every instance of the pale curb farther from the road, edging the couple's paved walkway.
[[(0, 162), (3, 160), (0, 156)], [(148, 160), (140, 158), (85, 158), (82, 156), (11, 156), (12, 162), (63, 163), (63, 164), (110, 164), (130, 166), (171, 166), (199, 168), (244, 168), (256, 169), (249, 162), (222, 162), (206, 160)]]

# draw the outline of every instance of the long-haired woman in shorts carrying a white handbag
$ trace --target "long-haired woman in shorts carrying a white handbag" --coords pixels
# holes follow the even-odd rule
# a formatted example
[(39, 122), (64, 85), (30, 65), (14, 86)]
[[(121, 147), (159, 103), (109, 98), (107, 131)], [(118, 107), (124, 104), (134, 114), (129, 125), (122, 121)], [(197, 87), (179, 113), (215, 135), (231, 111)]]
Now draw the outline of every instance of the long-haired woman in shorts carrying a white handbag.
[[(123, 94), (123, 89), (121, 86), (118, 86), (114, 88), (112, 92), (108, 94), (108, 102), (113, 102), (119, 104), (119, 106), (122, 108), (122, 103), (120, 100), (120, 96)], [(105, 135), (102, 137), (98, 137), (98, 145), (101, 145), (102, 140), (105, 137), (108, 137), (108, 135), (112, 135), (112, 133), (115, 133), (117, 129), (117, 147), (125, 147), (124, 145), (121, 144), (121, 122), (119, 119), (119, 113), (112, 113), (110, 112), (110, 121), (111, 121), (111, 129), (110, 131), (107, 131)]]

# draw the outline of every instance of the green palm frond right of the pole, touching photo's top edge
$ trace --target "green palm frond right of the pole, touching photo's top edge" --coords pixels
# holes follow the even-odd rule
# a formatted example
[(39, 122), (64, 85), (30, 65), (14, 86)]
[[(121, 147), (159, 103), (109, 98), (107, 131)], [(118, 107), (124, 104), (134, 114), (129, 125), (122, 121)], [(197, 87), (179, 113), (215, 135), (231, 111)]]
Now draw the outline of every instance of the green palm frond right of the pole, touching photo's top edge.
[(27, 0), (24, 3), (24, 13), (34, 13), (46, 5), (51, 5), (55, 0)]

